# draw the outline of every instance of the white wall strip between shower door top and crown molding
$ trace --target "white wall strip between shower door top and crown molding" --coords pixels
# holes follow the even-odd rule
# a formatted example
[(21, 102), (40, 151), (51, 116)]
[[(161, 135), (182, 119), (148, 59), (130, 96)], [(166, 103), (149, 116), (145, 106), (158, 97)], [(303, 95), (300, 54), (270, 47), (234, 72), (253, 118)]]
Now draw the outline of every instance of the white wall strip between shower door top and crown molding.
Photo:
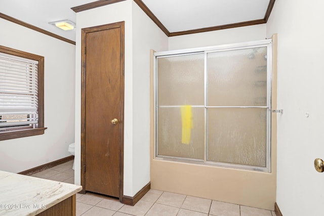
[(266, 24), (229, 28), (169, 37), (169, 50), (233, 44), (236, 42), (262, 40), (265, 37)]

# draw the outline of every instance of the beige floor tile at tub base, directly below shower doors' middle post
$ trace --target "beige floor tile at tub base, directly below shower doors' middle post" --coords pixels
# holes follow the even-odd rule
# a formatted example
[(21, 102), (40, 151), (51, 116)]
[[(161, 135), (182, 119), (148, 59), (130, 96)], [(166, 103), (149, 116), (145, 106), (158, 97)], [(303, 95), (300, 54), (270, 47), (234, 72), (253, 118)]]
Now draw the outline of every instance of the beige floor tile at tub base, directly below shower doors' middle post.
[(203, 213), (209, 213), (209, 209), (211, 207), (212, 200), (204, 199), (199, 197), (187, 196), (184, 200), (181, 208), (199, 211)]

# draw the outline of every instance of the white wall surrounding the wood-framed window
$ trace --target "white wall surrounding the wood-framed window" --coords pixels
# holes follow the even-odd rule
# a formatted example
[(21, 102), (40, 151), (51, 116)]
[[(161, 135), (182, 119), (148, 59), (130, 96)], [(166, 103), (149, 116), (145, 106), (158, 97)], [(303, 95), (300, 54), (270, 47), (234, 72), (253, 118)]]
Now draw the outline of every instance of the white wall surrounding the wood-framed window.
[(20, 172), (70, 154), (74, 142), (75, 46), (0, 19), (0, 45), (45, 57), (44, 135), (0, 141), (0, 170)]

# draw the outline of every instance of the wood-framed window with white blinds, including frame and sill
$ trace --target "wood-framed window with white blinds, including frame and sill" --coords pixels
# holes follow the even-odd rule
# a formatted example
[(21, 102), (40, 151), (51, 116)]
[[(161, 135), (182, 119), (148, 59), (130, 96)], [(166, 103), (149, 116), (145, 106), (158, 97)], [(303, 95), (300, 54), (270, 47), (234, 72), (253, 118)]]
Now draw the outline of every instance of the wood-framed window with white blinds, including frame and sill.
[(0, 46), (0, 140), (45, 129), (44, 57)]

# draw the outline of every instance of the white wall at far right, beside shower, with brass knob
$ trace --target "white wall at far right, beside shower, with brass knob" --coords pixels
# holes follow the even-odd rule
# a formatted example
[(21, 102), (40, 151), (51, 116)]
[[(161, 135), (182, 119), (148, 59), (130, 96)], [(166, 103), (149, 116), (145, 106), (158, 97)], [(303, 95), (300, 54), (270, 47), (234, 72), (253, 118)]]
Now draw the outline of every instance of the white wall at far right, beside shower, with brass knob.
[[(276, 1), (267, 36), (278, 33), (277, 198), (285, 216), (324, 215), (324, 2)], [(309, 117), (306, 117), (309, 113)]]

